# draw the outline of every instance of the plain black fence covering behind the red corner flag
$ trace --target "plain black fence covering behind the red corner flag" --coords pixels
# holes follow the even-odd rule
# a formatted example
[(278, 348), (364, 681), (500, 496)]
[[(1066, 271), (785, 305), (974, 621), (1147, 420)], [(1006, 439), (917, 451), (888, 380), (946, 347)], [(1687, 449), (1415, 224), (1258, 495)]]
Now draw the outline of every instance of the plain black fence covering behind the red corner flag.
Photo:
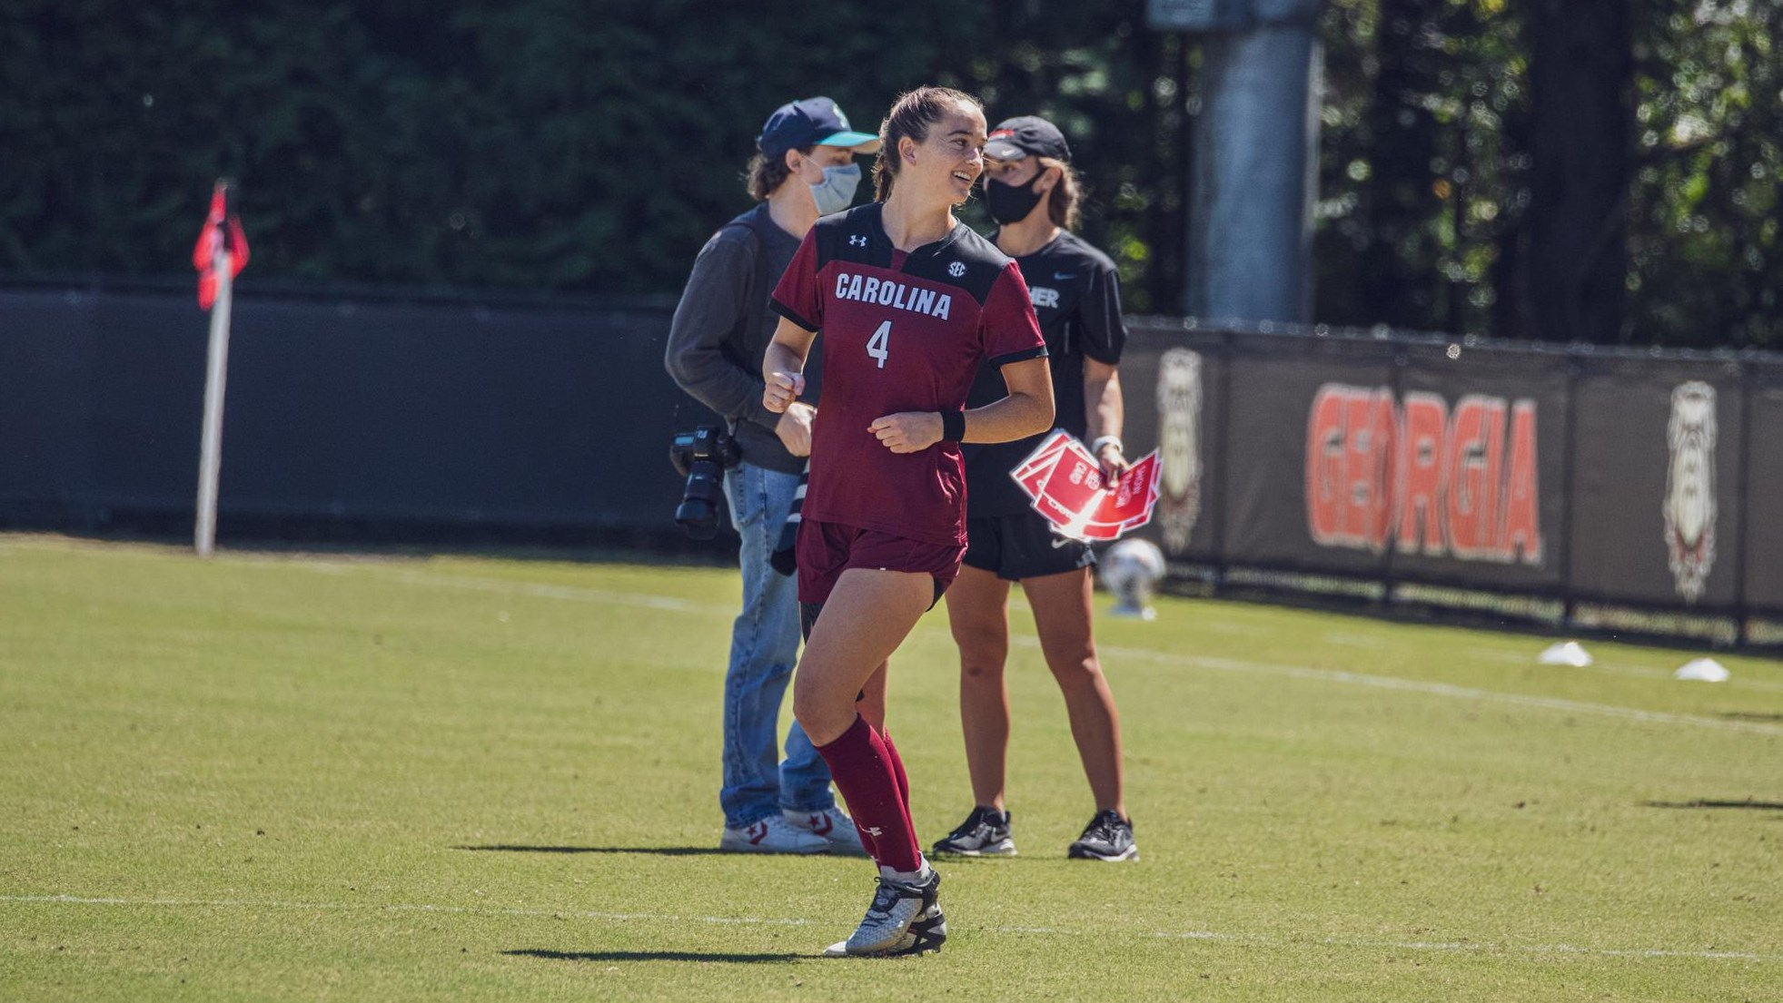
[[(184, 290), (182, 290), (184, 292)], [(219, 533), (679, 536), (663, 310), (237, 296)], [(189, 524), (191, 296), (0, 292), (0, 526)], [(351, 531), (351, 533), (348, 533)]]

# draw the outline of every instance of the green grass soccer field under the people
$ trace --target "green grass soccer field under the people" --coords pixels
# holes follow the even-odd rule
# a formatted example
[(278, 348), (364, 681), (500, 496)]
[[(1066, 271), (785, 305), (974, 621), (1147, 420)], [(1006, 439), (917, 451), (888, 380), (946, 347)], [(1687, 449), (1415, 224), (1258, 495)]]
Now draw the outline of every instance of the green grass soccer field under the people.
[[(1209, 600), (1098, 624), (1143, 860), (1015, 609), (1022, 857), (826, 960), (859, 859), (711, 852), (735, 572), (0, 536), (0, 999), (1779, 999), (1783, 665)], [(893, 661), (970, 807), (945, 613)]]

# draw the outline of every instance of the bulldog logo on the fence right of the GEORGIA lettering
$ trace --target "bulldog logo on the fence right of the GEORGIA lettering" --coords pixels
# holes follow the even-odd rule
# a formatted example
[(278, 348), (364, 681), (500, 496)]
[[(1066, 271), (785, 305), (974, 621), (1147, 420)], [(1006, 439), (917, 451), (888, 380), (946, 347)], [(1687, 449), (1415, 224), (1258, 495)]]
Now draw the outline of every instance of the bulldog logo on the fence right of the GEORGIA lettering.
[(1715, 565), (1713, 387), (1692, 379), (1672, 388), (1665, 445), (1665, 550), (1678, 595), (1696, 602)]

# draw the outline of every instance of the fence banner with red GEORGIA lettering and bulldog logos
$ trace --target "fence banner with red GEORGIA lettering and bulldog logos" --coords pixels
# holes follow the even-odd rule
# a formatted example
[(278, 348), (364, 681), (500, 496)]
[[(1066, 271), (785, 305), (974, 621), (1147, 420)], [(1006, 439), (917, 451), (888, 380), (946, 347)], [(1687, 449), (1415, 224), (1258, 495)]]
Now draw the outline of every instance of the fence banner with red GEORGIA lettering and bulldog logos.
[(1177, 575), (1715, 641), (1778, 616), (1783, 449), (1747, 435), (1776, 360), (1141, 319), (1122, 383), (1129, 451), (1196, 474), (1209, 533), (1166, 502), (1145, 531)]

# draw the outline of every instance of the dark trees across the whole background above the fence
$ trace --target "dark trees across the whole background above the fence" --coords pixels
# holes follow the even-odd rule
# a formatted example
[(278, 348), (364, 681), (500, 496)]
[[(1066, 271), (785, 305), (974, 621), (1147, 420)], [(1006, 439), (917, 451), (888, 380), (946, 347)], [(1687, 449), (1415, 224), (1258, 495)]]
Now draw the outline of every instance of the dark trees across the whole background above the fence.
[[(1626, 16), (1626, 183), (1580, 175), (1614, 192), (1541, 182), (1578, 137), (1537, 107), (1535, 16), (1580, 4), (1327, 4), (1319, 321), (1783, 340), (1783, 4), (1592, 5)], [(0, 0), (0, 274), (175, 274), (228, 175), (250, 281), (672, 296), (776, 105), (872, 128), (938, 82), (1059, 121), (1086, 237), (1132, 310), (1175, 312), (1196, 66), (1145, 0)], [(1592, 205), (1626, 301), (1585, 303), (1623, 321), (1557, 333), (1542, 253)]]

